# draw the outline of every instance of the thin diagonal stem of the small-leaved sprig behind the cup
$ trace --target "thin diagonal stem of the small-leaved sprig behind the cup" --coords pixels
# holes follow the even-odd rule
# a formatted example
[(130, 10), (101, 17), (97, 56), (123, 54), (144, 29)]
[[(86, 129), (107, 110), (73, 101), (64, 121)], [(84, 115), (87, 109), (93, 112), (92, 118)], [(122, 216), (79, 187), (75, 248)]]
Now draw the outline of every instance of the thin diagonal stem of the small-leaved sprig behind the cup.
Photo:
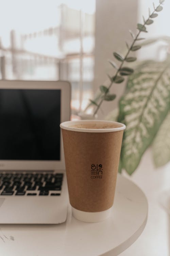
[[(109, 90), (110, 90), (111, 86), (115, 83), (114, 81), (115, 81), (115, 79), (118, 77), (118, 74), (119, 74), (119, 72), (121, 71), (121, 68), (122, 68), (124, 62), (125, 62), (126, 58), (128, 57), (129, 53), (132, 51), (132, 48), (133, 48), (135, 42), (138, 40), (138, 37), (139, 37), (140, 33), (141, 33), (141, 32), (147, 32), (147, 31), (145, 31), (145, 30), (142, 30), (142, 27), (145, 28), (145, 25), (150, 25), (150, 24), (153, 22), (153, 21), (152, 21), (152, 22), (150, 23), (150, 21), (151, 21), (150, 18), (152, 18), (153, 14), (154, 14), (157, 10), (159, 10), (160, 5), (161, 5), (163, 2), (164, 2), (163, 0), (159, 0), (159, 5), (158, 5), (156, 8), (155, 8), (155, 6), (154, 6), (154, 4), (153, 4), (153, 6), (154, 6), (154, 11), (153, 11), (152, 13), (150, 13), (150, 9), (149, 9), (149, 17), (148, 17), (148, 19), (145, 21), (145, 19), (143, 18), (143, 22), (144, 22), (143, 25), (141, 25), (140, 29), (138, 28), (138, 29), (139, 29), (139, 32), (137, 33), (136, 37), (134, 38), (134, 40), (133, 40), (131, 46), (129, 47), (129, 49), (128, 49), (127, 53), (126, 53), (126, 55), (125, 55), (124, 58), (121, 60), (121, 64), (120, 64), (119, 68), (117, 69), (115, 76), (113, 77), (114, 80), (113, 80), (113, 78), (111, 79), (111, 83), (110, 83), (110, 85), (108, 86), (107, 90), (104, 92), (103, 96), (101, 97), (101, 100), (100, 100), (99, 104), (98, 104), (98, 105), (96, 104), (96, 105), (97, 105), (97, 108), (96, 108), (96, 110), (95, 110), (93, 116), (95, 116), (95, 114), (97, 114), (97, 112), (98, 112), (100, 106), (102, 105), (103, 101), (105, 100), (106, 95), (109, 93)], [(159, 10), (159, 11), (160, 11), (160, 10)], [(155, 16), (156, 16), (156, 15), (155, 15)], [(140, 24), (139, 24), (139, 25), (140, 25)], [(134, 46), (134, 47), (135, 47), (135, 46)], [(141, 46), (140, 46), (140, 47), (141, 47)]]

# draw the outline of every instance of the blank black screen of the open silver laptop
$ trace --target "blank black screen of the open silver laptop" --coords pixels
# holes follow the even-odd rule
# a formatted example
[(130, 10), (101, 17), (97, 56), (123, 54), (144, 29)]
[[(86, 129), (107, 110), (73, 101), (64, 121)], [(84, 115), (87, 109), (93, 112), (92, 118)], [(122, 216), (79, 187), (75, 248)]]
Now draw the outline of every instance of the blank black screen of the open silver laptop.
[(60, 160), (61, 90), (0, 89), (0, 160)]

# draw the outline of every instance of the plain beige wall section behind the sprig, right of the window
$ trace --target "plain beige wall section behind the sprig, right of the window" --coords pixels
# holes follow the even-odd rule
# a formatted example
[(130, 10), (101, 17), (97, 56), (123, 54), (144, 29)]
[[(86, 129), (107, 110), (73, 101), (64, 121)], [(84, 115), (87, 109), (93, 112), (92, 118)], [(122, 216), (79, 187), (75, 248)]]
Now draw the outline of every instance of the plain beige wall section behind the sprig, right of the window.
[[(107, 73), (114, 75), (115, 70), (107, 60), (113, 60), (113, 52), (123, 52), (125, 41), (132, 40), (129, 29), (136, 31), (137, 3), (137, 0), (96, 0), (95, 92), (107, 79)], [(99, 110), (99, 117), (115, 108), (123, 90), (123, 84), (113, 85), (112, 92), (117, 94), (117, 99), (103, 103), (104, 115)]]

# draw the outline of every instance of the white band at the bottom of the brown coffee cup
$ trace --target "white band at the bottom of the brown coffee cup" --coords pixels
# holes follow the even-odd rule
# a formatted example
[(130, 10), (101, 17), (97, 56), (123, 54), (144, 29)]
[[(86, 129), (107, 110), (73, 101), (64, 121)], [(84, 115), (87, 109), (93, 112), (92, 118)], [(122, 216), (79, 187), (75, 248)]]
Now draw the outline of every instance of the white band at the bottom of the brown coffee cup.
[(110, 217), (112, 207), (102, 212), (83, 212), (72, 207), (72, 215), (74, 218), (84, 222), (100, 222)]

